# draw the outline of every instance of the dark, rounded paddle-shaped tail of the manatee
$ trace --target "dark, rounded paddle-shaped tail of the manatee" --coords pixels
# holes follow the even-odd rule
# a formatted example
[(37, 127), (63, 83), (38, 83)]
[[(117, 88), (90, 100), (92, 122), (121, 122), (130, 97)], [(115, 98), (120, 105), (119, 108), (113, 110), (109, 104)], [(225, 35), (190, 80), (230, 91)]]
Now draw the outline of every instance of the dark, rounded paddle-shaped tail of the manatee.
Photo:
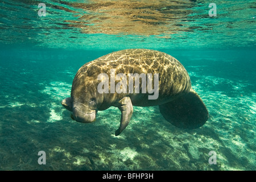
[(207, 107), (193, 89), (171, 102), (159, 105), (159, 109), (168, 122), (182, 129), (203, 126), (209, 117)]

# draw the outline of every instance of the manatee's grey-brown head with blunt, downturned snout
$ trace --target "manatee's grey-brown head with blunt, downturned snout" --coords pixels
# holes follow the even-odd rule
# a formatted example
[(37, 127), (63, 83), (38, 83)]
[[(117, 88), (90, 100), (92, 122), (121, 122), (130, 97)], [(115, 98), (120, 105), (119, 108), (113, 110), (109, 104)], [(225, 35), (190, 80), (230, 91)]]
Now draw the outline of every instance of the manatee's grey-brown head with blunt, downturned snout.
[(82, 123), (95, 121), (98, 107), (103, 102), (103, 94), (97, 92), (97, 85), (88, 80), (82, 82), (74, 80), (71, 97), (65, 98), (61, 103), (72, 111), (72, 119)]

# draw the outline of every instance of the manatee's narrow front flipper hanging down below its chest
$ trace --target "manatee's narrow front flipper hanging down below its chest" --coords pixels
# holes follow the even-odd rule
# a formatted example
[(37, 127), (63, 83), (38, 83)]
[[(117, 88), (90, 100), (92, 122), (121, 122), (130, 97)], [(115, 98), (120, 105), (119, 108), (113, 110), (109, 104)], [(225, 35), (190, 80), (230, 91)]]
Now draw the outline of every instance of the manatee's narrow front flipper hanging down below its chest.
[(120, 126), (115, 131), (115, 136), (118, 136), (122, 133), (122, 131), (126, 128), (126, 126), (129, 124), (131, 115), (133, 115), (133, 104), (131, 104), (130, 97), (123, 97), (122, 100), (118, 102), (118, 109), (121, 111), (121, 121)]

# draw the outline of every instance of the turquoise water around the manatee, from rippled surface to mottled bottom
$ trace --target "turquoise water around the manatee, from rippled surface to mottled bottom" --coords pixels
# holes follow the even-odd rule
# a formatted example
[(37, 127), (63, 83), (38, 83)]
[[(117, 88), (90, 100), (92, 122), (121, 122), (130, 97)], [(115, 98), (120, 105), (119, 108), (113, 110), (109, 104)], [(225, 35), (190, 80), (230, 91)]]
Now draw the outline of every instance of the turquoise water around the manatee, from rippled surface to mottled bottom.
[[(1, 1), (1, 170), (255, 170), (255, 2)], [(88, 61), (126, 48), (174, 56), (209, 111), (178, 129), (158, 106), (135, 107), (118, 137), (120, 111), (75, 122), (61, 106)], [(46, 164), (38, 163), (39, 151)], [(209, 152), (216, 164), (209, 164)]]

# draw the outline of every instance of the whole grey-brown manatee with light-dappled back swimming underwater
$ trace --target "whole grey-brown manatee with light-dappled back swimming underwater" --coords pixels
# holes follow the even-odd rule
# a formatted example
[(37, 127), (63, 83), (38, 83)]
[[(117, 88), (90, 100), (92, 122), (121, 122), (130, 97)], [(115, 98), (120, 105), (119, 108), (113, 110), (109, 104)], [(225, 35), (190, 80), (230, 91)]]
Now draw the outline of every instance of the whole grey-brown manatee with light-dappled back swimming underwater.
[(183, 65), (151, 49), (125, 49), (84, 64), (73, 79), (71, 97), (61, 104), (83, 123), (95, 121), (98, 110), (118, 107), (116, 136), (129, 124), (133, 106), (159, 105), (163, 117), (181, 129), (196, 129), (209, 117)]

